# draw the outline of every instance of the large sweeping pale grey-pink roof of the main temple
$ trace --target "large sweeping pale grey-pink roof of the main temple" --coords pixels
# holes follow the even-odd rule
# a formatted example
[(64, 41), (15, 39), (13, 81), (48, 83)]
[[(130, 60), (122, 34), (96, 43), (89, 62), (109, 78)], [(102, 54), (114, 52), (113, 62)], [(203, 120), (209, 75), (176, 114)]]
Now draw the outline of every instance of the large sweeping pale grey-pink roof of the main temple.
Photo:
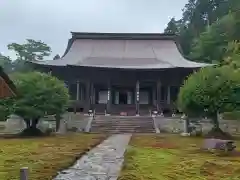
[(72, 32), (61, 59), (36, 62), (48, 66), (120, 69), (200, 68), (183, 57), (173, 34)]

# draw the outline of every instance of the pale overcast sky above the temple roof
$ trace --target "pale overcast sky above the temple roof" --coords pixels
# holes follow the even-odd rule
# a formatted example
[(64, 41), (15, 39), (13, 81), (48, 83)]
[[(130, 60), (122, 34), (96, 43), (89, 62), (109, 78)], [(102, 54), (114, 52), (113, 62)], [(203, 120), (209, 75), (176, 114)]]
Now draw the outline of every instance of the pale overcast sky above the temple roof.
[(187, 0), (0, 0), (0, 52), (25, 39), (42, 40), (62, 55), (71, 31), (163, 32)]

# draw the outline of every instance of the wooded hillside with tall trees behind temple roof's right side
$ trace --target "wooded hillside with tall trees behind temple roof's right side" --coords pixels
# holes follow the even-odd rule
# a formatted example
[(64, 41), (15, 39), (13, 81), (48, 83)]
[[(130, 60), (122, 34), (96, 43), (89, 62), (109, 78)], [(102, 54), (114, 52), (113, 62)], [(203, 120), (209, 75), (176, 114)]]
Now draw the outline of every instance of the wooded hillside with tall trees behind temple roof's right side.
[[(172, 18), (166, 33), (179, 35), (183, 54), (197, 62), (225, 63), (240, 40), (239, 0), (189, 0), (182, 18)], [(236, 56), (235, 56), (236, 57)]]

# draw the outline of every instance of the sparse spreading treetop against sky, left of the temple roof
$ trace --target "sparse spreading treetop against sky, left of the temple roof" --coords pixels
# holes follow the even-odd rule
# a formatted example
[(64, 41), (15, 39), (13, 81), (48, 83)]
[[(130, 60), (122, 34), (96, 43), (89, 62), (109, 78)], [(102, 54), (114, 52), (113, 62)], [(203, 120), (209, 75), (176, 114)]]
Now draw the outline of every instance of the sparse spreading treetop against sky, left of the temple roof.
[(43, 60), (51, 53), (51, 48), (47, 44), (33, 39), (27, 39), (25, 44), (9, 44), (8, 49), (15, 51), (18, 59), (25, 61)]

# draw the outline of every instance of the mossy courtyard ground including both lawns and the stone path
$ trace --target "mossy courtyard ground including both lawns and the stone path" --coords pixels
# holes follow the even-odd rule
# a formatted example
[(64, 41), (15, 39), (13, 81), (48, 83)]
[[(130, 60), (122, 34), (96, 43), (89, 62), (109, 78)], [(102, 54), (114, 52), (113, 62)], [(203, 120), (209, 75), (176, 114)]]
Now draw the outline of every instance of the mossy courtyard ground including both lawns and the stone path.
[(236, 152), (202, 150), (204, 139), (173, 134), (82, 134), (0, 139), (0, 179), (227, 180), (240, 178)]

